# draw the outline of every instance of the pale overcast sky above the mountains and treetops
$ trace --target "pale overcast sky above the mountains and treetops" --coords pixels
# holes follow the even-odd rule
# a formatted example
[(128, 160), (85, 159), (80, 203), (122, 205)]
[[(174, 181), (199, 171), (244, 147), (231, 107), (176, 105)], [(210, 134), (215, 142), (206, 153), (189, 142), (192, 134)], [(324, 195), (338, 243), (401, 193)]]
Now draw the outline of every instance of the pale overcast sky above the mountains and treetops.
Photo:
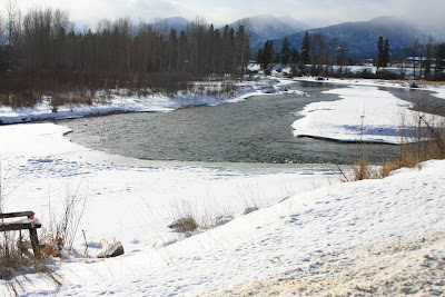
[(444, 0), (14, 0), (21, 11), (60, 8), (76, 23), (130, 17), (154, 21), (168, 17), (225, 24), (256, 14), (289, 14), (312, 27), (345, 21), (366, 21), (380, 16), (409, 17), (415, 22), (444, 28)]

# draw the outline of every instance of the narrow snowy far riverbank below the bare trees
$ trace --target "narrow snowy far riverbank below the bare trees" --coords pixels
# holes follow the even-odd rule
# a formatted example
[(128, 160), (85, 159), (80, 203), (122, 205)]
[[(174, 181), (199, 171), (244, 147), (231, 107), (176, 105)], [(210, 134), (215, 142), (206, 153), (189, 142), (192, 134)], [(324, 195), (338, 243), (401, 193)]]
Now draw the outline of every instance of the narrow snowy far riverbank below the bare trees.
[[(226, 102), (237, 102), (246, 98), (265, 95), (270, 92), (286, 92), (286, 85), (294, 81), (333, 83), (345, 86), (362, 87), (388, 87), (409, 89), (409, 83), (404, 81), (382, 81), (372, 79), (324, 79), (318, 80), (313, 77), (296, 78), (255, 78), (243, 82), (234, 82), (237, 91), (233, 96), (224, 96), (216, 99), (214, 96), (200, 95), (177, 95), (167, 97), (161, 95), (154, 96), (131, 96), (127, 90), (113, 90), (102, 103), (92, 105), (66, 105), (59, 106), (53, 112), (50, 98), (43, 97), (42, 102), (33, 108), (12, 109), (10, 106), (0, 106), (0, 123), (21, 123), (41, 120), (72, 119), (85, 116), (98, 116), (116, 112), (166, 112), (187, 106), (215, 106)], [(198, 83), (198, 82), (197, 82)], [(445, 99), (445, 86), (441, 83), (418, 82), (422, 90), (429, 90), (433, 96)]]

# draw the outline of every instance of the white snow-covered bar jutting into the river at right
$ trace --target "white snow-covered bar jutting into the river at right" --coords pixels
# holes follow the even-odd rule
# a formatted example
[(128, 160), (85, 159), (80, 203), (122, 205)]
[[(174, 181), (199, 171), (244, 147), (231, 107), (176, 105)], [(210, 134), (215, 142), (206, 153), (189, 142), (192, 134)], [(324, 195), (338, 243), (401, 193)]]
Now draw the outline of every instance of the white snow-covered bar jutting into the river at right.
[[(403, 143), (409, 141), (404, 136), (414, 135), (418, 113), (411, 110), (413, 103), (388, 91), (377, 87), (352, 86), (326, 93), (338, 95), (342, 100), (307, 105), (300, 112), (305, 117), (293, 125), (295, 136)], [(444, 120), (432, 115), (422, 116), (428, 122)]]

